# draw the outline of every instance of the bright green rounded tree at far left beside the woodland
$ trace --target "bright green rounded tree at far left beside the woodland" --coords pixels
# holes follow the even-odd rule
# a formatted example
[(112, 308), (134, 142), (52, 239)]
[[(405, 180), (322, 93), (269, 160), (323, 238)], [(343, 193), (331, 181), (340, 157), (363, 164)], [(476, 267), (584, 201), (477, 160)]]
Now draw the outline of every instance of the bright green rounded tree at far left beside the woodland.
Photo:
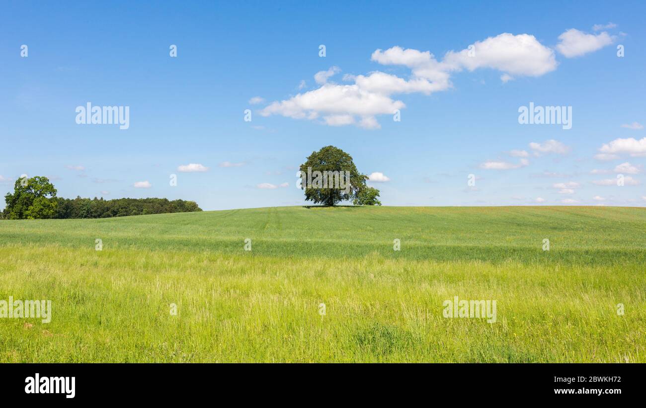
[(5, 195), (6, 219), (52, 218), (56, 214), (56, 189), (47, 177), (19, 178), (14, 194)]

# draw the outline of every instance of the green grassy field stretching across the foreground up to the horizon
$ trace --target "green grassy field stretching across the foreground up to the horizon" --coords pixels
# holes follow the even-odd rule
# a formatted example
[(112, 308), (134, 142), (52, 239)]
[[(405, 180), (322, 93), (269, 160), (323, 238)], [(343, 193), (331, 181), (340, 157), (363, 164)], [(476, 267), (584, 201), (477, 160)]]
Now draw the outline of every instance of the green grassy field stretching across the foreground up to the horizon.
[[(0, 362), (646, 362), (640, 208), (0, 221), (0, 258), (0, 300), (52, 301), (0, 319)], [(497, 321), (444, 318), (454, 296)]]

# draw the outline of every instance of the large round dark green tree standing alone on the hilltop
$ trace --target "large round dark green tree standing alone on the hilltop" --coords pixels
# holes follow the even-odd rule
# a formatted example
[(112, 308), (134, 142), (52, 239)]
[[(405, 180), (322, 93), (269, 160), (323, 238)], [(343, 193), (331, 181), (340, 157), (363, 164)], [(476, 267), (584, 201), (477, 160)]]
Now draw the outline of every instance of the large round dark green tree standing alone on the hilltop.
[(300, 187), (306, 201), (316, 204), (333, 206), (356, 198), (366, 188), (367, 179), (357, 170), (352, 156), (334, 146), (312, 152), (300, 165)]

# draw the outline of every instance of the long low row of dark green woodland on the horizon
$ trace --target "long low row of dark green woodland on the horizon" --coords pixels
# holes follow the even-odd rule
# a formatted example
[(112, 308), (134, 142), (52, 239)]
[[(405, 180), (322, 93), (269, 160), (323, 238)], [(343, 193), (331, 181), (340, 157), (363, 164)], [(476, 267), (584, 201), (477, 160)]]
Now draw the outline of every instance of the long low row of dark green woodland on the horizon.
[(202, 211), (195, 201), (166, 198), (59, 198), (54, 218), (110, 218)]

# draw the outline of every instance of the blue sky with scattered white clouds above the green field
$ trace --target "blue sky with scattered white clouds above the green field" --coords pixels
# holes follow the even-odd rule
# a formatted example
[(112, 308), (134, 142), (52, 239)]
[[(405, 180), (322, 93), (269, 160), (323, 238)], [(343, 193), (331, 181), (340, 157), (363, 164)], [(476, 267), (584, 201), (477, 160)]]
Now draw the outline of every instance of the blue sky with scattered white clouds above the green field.
[[(3, 194), (28, 174), (68, 198), (299, 205), (296, 168), (335, 145), (384, 205), (646, 205), (643, 2), (1, 7)], [(88, 102), (129, 128), (77, 124)], [(572, 128), (519, 124), (530, 102)]]

